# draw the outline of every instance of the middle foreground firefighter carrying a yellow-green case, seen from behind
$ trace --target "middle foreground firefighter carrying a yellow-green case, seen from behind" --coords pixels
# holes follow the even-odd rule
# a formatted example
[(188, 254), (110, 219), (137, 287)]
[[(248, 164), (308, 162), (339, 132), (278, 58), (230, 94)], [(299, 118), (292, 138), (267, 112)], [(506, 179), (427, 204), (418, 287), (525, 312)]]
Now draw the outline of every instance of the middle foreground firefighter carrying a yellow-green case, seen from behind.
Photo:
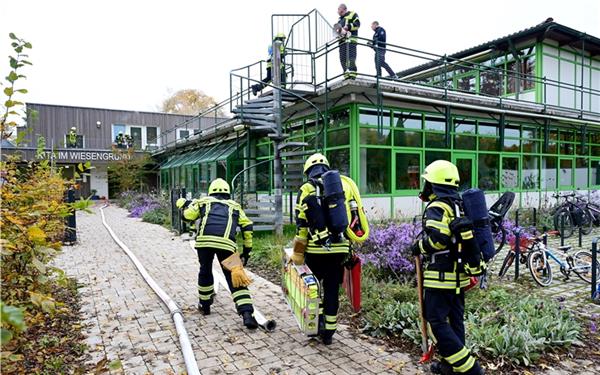
[[(322, 190), (321, 177), (327, 171), (329, 171), (329, 162), (319, 153), (310, 156), (304, 164), (304, 174), (308, 181), (300, 187), (296, 200), (297, 229), (291, 260), (295, 264), (306, 262), (313, 274), (321, 281), (323, 299), (319, 314), (319, 335), (323, 344), (330, 345), (337, 328), (338, 291), (344, 276), (344, 263), (349, 257), (350, 241), (343, 233), (332, 234), (322, 225), (324, 222), (322, 217), (321, 219), (317, 217), (318, 207), (321, 206), (315, 205), (315, 202), (318, 199), (318, 191)], [(349, 197), (352, 198), (352, 193), (349, 191), (356, 191), (354, 196), (358, 193), (357, 189), (346, 188), (347, 184), (356, 187), (350, 178), (346, 176), (341, 178), (342, 181), (351, 181), (344, 183), (345, 189), (341, 192), (342, 201), (345, 199), (347, 202)], [(347, 219), (345, 209), (344, 205), (343, 218)], [(314, 224), (315, 222), (317, 224)]]

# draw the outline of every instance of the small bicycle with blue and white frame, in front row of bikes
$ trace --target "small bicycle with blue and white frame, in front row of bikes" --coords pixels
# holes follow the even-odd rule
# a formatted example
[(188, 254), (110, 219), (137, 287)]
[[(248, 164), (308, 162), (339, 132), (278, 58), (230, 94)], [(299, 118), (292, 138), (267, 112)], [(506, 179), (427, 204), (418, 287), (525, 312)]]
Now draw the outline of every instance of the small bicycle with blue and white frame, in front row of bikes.
[[(567, 252), (571, 250), (571, 246), (559, 246), (558, 250), (567, 255), (563, 262), (554, 254), (551, 248), (548, 248), (544, 244), (542, 237), (535, 238), (534, 246), (536, 250), (529, 253), (527, 264), (533, 280), (538, 285), (548, 286), (552, 283), (550, 259), (558, 263), (560, 272), (565, 276), (565, 280), (568, 280), (571, 272), (573, 272), (586, 283), (592, 283), (592, 254), (589, 251), (579, 250), (574, 255), (567, 255)], [(600, 272), (600, 264), (598, 262), (596, 262), (596, 269), (597, 272)]]

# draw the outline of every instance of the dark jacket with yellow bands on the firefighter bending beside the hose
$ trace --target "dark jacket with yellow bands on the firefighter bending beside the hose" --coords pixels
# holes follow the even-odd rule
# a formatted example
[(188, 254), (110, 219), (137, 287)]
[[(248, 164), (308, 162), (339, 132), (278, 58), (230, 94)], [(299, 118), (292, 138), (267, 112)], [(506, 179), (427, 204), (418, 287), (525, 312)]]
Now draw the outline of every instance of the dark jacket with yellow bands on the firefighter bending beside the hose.
[(245, 247), (252, 247), (252, 221), (240, 205), (231, 199), (207, 196), (195, 199), (183, 211), (189, 221), (200, 219), (196, 248), (237, 250), (235, 235), (238, 226), (242, 230)]

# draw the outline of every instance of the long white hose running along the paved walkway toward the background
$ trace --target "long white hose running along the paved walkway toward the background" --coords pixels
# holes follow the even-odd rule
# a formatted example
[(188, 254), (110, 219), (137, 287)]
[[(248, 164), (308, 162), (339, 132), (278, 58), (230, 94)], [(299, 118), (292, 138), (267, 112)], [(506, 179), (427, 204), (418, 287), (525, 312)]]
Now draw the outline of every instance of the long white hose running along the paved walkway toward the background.
[(146, 283), (150, 286), (150, 288), (152, 288), (152, 290), (154, 290), (154, 293), (158, 295), (158, 297), (162, 300), (165, 306), (167, 306), (167, 308), (169, 309), (171, 317), (173, 318), (173, 321), (175, 323), (175, 328), (177, 329), (177, 336), (179, 336), (179, 344), (181, 345), (181, 352), (183, 354), (183, 360), (185, 362), (185, 368), (187, 370), (188, 375), (200, 375), (200, 370), (198, 369), (196, 357), (194, 356), (194, 351), (192, 350), (192, 344), (190, 343), (190, 338), (183, 323), (183, 314), (181, 312), (181, 309), (179, 308), (179, 306), (177, 306), (175, 301), (173, 301), (171, 297), (169, 297), (167, 293), (165, 293), (165, 291), (162, 290), (160, 286), (158, 286), (154, 279), (148, 274), (148, 271), (146, 271), (139, 259), (135, 256), (135, 254), (133, 254), (131, 250), (129, 250), (127, 245), (125, 245), (123, 241), (121, 241), (117, 237), (115, 232), (113, 232), (113, 230), (110, 228), (110, 226), (106, 222), (106, 218), (104, 217), (104, 208), (106, 207), (108, 207), (108, 205), (104, 205), (100, 208), (100, 213), (102, 214), (102, 224), (104, 225), (108, 233), (110, 233), (110, 236), (117, 243), (117, 245), (119, 245), (119, 247), (123, 249), (123, 251), (131, 259), (131, 261), (137, 268), (140, 275), (142, 275)]

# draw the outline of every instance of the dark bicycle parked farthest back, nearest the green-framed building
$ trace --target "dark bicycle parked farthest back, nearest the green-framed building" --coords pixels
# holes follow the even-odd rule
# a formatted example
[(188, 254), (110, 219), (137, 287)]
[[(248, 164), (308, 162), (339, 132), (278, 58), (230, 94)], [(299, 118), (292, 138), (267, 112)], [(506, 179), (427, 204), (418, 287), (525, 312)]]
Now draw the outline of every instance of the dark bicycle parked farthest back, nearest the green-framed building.
[[(567, 195), (553, 194), (552, 196), (565, 200), (565, 203), (559, 205), (554, 211), (555, 230), (561, 231), (564, 238), (571, 237), (576, 227), (580, 227), (583, 234), (592, 232), (593, 219), (591, 214), (576, 203), (581, 198), (578, 198), (574, 193)], [(571, 200), (573, 198), (575, 198), (575, 202)]]

